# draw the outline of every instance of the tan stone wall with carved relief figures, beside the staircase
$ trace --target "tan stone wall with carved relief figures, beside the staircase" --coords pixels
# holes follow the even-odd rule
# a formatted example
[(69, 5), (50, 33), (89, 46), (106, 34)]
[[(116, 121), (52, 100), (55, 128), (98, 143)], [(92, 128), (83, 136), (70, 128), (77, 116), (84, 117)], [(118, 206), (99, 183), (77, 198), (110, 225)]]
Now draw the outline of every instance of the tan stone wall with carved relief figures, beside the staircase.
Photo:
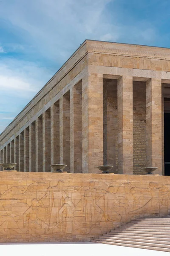
[(90, 241), (169, 206), (166, 176), (0, 172), (0, 242)]

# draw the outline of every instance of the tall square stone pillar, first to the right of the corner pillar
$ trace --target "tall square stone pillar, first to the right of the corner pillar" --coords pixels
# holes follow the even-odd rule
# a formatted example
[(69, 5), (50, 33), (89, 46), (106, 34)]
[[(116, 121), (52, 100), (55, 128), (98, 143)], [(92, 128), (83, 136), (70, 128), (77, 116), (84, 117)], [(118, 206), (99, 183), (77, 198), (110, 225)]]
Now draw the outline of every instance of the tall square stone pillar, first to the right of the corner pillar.
[(117, 84), (118, 173), (133, 174), (133, 78), (121, 76)]

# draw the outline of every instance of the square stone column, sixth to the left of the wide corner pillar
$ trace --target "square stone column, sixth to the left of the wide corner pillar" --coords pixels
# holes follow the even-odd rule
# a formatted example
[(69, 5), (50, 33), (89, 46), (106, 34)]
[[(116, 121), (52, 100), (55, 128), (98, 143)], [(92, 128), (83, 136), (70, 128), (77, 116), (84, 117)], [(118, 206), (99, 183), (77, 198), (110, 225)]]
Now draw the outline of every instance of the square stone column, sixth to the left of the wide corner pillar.
[(29, 171), (35, 172), (35, 122), (29, 126)]

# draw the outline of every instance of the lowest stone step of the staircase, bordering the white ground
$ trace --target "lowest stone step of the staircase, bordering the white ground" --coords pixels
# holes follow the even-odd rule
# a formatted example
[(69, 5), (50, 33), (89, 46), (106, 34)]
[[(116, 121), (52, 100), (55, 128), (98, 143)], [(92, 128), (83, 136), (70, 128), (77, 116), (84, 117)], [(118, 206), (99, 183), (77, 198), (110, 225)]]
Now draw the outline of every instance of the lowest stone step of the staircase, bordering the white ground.
[(170, 249), (167, 248), (160, 248), (160, 247), (152, 247), (152, 246), (142, 246), (142, 245), (136, 245), (136, 244), (121, 244), (121, 243), (113, 243), (108, 241), (97, 241), (92, 240), (93, 243), (102, 243), (102, 244), (113, 244), (113, 245), (119, 245), (119, 246), (126, 246), (126, 247), (134, 247), (134, 248), (141, 248), (141, 249), (148, 249), (148, 250), (159, 250), (164, 252), (170, 252)]

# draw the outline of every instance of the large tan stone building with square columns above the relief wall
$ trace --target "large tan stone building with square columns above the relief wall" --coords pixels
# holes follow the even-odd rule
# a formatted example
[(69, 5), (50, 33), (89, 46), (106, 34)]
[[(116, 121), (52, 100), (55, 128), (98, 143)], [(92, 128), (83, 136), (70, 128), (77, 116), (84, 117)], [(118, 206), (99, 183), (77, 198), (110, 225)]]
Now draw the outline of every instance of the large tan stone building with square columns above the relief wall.
[[(86, 40), (0, 134), (0, 161), (21, 172), (164, 175), (170, 49)], [(2, 170), (2, 168), (1, 168)]]

